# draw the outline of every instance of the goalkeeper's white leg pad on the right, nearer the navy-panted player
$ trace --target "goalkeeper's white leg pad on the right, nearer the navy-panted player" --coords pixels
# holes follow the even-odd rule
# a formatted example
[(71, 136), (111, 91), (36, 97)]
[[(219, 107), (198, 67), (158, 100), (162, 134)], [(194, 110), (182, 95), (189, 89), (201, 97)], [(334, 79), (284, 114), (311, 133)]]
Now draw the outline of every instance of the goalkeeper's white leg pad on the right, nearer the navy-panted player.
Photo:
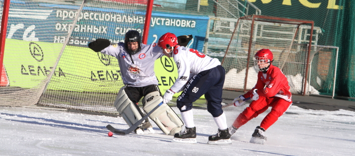
[[(160, 96), (159, 91), (154, 91), (146, 95), (143, 100), (143, 110), (146, 113), (149, 113), (155, 106), (157, 106), (160, 102), (163, 101), (163, 98)], [(166, 134), (166, 135), (174, 135), (181, 131), (184, 123), (176, 115), (176, 113), (167, 105), (161, 105), (157, 110), (155, 110), (149, 116), (156, 125)]]

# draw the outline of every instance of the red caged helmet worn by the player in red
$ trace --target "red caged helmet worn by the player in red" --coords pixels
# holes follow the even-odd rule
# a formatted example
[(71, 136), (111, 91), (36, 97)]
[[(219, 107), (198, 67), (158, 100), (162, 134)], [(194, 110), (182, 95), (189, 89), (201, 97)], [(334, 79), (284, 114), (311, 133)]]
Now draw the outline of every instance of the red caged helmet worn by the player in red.
[(254, 66), (256, 66), (259, 71), (267, 71), (273, 59), (274, 56), (269, 49), (260, 49), (255, 53)]

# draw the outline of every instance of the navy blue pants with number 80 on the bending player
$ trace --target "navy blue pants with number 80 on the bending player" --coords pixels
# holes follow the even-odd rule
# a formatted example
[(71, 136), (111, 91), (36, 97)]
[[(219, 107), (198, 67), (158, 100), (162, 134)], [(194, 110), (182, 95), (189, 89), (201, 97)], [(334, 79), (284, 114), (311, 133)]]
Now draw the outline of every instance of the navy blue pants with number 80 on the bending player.
[[(190, 78), (176, 102), (180, 112), (191, 110), (192, 103), (204, 94), (207, 111), (213, 117), (219, 117), (223, 113), (221, 103), (225, 74), (224, 68), (217, 66)], [(181, 110), (183, 106), (186, 106), (186, 110)]]

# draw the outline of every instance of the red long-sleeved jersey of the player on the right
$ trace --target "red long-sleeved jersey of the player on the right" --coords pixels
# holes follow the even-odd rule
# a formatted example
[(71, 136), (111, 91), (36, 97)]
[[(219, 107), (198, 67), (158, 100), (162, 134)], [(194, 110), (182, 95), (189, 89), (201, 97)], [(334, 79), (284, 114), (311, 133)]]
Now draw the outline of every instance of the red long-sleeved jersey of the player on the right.
[(257, 89), (257, 94), (264, 97), (279, 97), (288, 102), (291, 102), (291, 92), (289, 82), (282, 71), (270, 65), (267, 72), (264, 74), (261, 71), (257, 73), (257, 82), (254, 88), (243, 96), (245, 98), (251, 97), (253, 95), (253, 90)]

